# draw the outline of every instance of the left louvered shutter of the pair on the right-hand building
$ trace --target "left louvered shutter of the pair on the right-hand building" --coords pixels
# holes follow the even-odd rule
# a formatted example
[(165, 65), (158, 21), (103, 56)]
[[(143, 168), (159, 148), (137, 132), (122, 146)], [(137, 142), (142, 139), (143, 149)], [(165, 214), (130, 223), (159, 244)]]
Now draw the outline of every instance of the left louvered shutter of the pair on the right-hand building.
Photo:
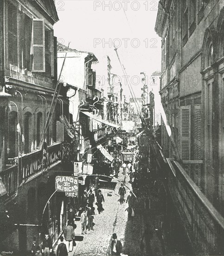
[(180, 107), (180, 156), (190, 160), (191, 155), (191, 106)]

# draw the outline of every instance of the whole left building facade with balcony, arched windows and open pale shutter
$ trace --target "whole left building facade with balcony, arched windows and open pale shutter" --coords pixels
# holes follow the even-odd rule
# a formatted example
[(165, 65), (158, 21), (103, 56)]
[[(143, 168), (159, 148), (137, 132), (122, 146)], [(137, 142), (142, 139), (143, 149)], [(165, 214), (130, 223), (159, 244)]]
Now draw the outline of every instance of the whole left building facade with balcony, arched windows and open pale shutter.
[(49, 200), (64, 171), (60, 116), (68, 117), (66, 90), (56, 90), (57, 21), (53, 0), (0, 1), (0, 251), (18, 255), (39, 233), (54, 243), (65, 225), (66, 197)]

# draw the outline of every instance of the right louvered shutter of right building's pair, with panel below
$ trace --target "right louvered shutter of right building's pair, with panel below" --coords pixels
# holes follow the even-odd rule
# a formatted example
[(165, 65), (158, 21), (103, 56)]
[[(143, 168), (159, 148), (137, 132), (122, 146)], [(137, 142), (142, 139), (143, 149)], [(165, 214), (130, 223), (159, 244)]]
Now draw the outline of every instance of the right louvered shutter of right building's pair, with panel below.
[[(194, 106), (194, 160), (201, 160), (201, 106)], [(194, 182), (200, 187), (201, 165), (194, 164)]]

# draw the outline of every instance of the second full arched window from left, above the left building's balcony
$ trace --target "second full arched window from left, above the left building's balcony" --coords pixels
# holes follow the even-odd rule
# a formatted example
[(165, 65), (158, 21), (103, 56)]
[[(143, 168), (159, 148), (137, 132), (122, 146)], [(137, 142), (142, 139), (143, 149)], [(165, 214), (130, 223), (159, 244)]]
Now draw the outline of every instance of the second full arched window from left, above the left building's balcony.
[(26, 112), (24, 115), (24, 152), (31, 152), (32, 148), (32, 114), (30, 112)]

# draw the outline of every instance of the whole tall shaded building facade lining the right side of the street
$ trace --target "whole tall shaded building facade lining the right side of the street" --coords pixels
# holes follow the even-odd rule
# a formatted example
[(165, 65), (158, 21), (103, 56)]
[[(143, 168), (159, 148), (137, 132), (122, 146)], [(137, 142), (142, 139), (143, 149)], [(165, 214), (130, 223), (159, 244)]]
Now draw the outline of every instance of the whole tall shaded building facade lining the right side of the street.
[(223, 27), (223, 0), (159, 3), (161, 147), (173, 170), (169, 189), (196, 254), (224, 253)]

